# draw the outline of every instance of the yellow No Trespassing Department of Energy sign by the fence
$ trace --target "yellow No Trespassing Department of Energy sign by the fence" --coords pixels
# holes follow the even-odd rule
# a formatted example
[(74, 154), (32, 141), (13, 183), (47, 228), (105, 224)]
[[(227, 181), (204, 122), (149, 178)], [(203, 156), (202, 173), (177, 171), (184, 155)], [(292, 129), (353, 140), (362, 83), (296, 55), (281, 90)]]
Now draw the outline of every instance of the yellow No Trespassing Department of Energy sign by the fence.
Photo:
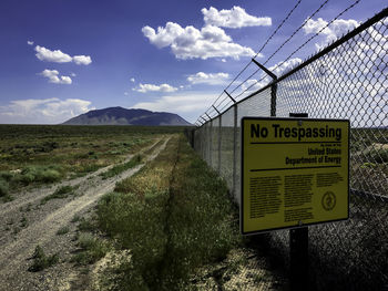
[(243, 235), (343, 220), (349, 207), (349, 121), (242, 119)]

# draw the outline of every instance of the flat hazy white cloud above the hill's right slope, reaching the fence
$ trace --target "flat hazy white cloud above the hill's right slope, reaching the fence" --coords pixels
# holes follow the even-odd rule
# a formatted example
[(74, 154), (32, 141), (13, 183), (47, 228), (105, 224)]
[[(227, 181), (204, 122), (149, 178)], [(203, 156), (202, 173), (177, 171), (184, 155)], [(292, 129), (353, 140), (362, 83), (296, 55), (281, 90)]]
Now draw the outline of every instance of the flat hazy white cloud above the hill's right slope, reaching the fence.
[(194, 122), (200, 114), (212, 105), (217, 93), (185, 92), (174, 96), (162, 96), (152, 102), (140, 102), (132, 107), (156, 112), (173, 112), (190, 122)]

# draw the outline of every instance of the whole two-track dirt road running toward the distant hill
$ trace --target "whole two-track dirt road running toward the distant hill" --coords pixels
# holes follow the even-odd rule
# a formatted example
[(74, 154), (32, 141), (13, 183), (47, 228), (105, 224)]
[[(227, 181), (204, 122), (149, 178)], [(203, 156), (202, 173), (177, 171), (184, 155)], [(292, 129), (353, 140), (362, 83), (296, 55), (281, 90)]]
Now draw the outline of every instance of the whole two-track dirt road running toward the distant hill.
[[(144, 164), (113, 178), (102, 179), (99, 176), (109, 170), (112, 167), (110, 166), (54, 187), (18, 194), (16, 200), (0, 205), (0, 290), (63, 289), (61, 284), (67, 281), (63, 279), (73, 273), (69, 259), (76, 249), (74, 241), (76, 226), (72, 222), (74, 216), (82, 217), (90, 211), (102, 195), (114, 189), (118, 181), (134, 175), (147, 162), (154, 159), (164, 149), (167, 141), (167, 137), (164, 138), (164, 143), (153, 149)], [(147, 148), (142, 152), (145, 150)], [(129, 156), (126, 160), (132, 156)], [(51, 195), (63, 185), (78, 185), (75, 195), (41, 204), (45, 196)], [(63, 227), (69, 227), (69, 232), (63, 236), (57, 235), (58, 230)], [(28, 268), (32, 263), (30, 258), (38, 245), (48, 254), (59, 253), (60, 263), (40, 272), (29, 272)]]

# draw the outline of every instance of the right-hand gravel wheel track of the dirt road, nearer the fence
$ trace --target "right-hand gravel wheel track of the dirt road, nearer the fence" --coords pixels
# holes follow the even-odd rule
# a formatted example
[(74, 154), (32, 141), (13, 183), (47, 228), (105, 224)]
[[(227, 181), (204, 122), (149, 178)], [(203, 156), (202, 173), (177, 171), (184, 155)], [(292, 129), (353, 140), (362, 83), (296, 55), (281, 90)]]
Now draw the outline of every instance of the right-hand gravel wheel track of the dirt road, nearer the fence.
[[(98, 185), (88, 188), (86, 191), (69, 201), (61, 208), (48, 214), (43, 220), (27, 227), (18, 233), (16, 241), (2, 246), (0, 250), (0, 290), (16, 290), (13, 283), (20, 285), (23, 273), (27, 274), (29, 262), (27, 259), (32, 254), (34, 247), (48, 243), (55, 237), (57, 231), (67, 226), (74, 215), (90, 208), (98, 199), (114, 189), (115, 184), (137, 173), (146, 163), (154, 159), (166, 146), (171, 137), (159, 146), (145, 162), (111, 179), (102, 180)], [(156, 142), (157, 143), (157, 142)], [(155, 144), (156, 144), (155, 143)], [(39, 199), (42, 196), (39, 197)], [(4, 289), (3, 289), (4, 288)], [(27, 290), (30, 290), (29, 288)]]

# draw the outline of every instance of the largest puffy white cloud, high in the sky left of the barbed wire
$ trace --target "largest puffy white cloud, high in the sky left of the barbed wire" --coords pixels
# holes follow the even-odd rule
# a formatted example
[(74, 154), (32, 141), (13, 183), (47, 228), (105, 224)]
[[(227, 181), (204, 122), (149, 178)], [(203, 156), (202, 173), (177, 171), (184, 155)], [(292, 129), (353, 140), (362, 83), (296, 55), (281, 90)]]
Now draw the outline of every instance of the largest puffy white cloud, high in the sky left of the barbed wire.
[[(221, 28), (203, 27), (201, 30), (188, 25), (182, 28), (174, 22), (167, 22), (165, 28), (155, 31), (151, 27), (142, 29), (144, 37), (159, 49), (171, 46), (176, 59), (203, 59), (253, 56), (251, 48), (232, 42), (232, 38)], [(261, 55), (259, 55), (261, 56)]]

